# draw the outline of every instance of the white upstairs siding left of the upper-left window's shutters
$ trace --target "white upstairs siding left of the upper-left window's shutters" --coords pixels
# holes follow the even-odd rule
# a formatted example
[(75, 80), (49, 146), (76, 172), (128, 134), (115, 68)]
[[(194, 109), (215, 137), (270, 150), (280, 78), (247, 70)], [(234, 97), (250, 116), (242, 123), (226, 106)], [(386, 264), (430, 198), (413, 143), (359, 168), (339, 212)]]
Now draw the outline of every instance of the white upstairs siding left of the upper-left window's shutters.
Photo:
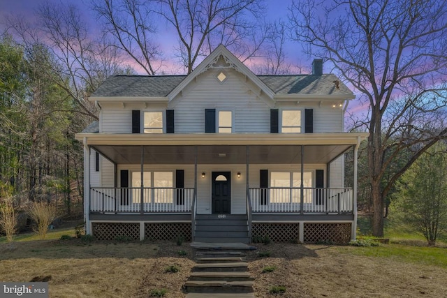
[(132, 133), (132, 110), (101, 110), (101, 133)]

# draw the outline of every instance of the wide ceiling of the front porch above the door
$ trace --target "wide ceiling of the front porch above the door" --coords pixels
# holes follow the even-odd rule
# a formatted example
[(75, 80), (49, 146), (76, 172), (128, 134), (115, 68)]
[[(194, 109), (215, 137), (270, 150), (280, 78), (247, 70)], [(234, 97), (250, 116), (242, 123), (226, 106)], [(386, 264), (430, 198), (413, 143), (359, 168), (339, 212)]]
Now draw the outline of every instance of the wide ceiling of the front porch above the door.
[[(304, 163), (329, 163), (352, 147), (352, 144), (305, 145)], [(141, 146), (135, 145), (92, 145), (101, 155), (117, 164), (140, 164)], [(245, 164), (247, 147), (241, 145), (197, 146), (198, 164)], [(145, 145), (145, 164), (193, 164), (196, 146), (190, 145)], [(250, 164), (297, 164), (301, 163), (300, 145), (250, 145)]]

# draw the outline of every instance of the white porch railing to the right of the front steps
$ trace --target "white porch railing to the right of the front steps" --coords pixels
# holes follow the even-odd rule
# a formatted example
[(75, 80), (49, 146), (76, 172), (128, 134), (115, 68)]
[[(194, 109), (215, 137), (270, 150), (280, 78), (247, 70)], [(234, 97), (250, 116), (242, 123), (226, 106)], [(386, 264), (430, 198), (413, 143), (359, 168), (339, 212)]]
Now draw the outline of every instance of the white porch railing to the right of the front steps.
[(353, 212), (352, 188), (249, 188), (251, 208), (257, 213)]

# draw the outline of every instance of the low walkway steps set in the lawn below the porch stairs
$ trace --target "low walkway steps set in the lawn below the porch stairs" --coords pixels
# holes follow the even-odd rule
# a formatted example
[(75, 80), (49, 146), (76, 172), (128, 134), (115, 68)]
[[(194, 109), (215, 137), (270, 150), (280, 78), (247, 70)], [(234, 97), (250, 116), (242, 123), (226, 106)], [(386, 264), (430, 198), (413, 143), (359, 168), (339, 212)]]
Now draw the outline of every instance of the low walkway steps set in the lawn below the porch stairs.
[(228, 251), (210, 249), (196, 253), (198, 263), (184, 285), (188, 292), (186, 298), (254, 298), (254, 278), (248, 272), (246, 255), (231, 248)]

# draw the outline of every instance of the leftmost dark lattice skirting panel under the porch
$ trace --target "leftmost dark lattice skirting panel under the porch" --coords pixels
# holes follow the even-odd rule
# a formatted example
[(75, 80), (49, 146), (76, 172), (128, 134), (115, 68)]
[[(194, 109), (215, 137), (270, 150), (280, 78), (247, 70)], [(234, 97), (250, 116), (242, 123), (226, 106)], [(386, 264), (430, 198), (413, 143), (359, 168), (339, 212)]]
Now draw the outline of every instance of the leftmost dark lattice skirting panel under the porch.
[(91, 223), (93, 235), (98, 240), (113, 240), (118, 236), (140, 239), (139, 223)]

